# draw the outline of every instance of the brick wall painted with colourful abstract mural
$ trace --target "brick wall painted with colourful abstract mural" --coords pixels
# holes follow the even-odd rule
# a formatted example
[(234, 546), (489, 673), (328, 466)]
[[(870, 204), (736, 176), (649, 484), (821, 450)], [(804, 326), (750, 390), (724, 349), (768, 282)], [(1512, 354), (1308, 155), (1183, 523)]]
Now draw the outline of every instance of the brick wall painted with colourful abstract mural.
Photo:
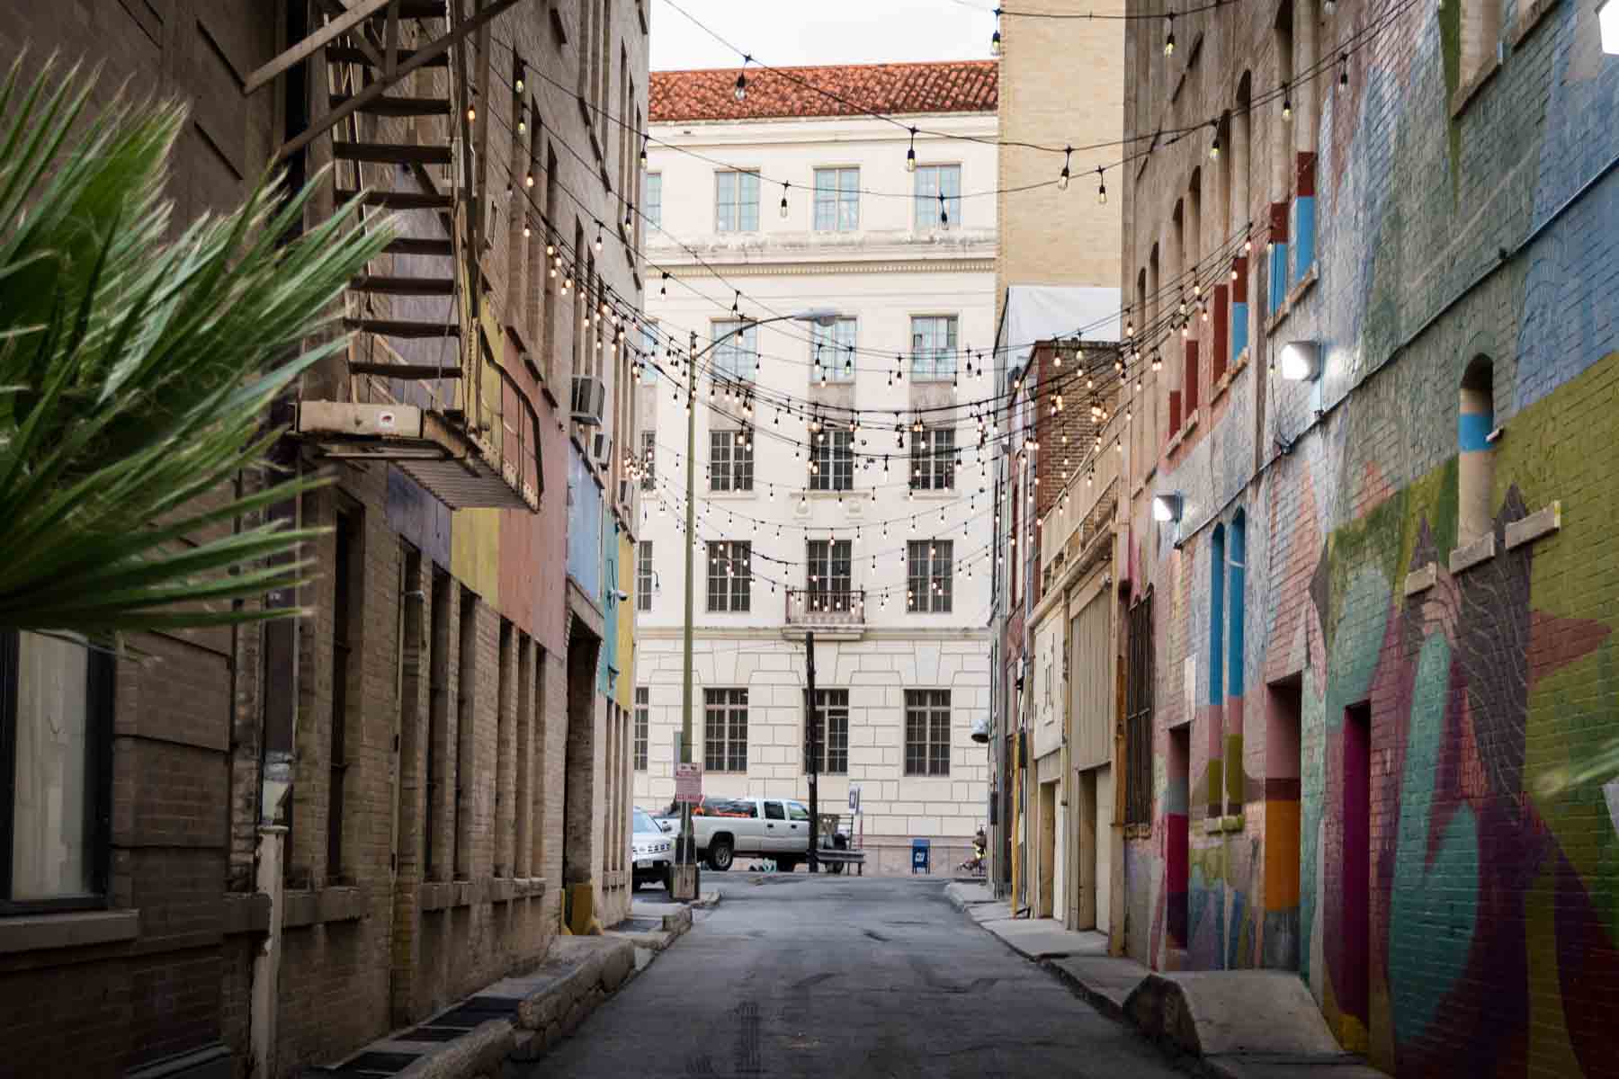
[[(1161, 463), (1182, 547), (1133, 506), (1158, 676), (1125, 945), (1297, 969), (1400, 1076), (1619, 1074), (1619, 781), (1567, 781), (1619, 739), (1619, 63), (1588, 8), (1536, 11), (1452, 118), (1455, 13), (1324, 107), (1319, 283), (1282, 338), (1321, 343), (1324, 416), (1250, 364)], [(1457, 404), (1473, 358), (1493, 413)], [(1256, 393), (1266, 442), (1310, 430), (1251, 479)]]

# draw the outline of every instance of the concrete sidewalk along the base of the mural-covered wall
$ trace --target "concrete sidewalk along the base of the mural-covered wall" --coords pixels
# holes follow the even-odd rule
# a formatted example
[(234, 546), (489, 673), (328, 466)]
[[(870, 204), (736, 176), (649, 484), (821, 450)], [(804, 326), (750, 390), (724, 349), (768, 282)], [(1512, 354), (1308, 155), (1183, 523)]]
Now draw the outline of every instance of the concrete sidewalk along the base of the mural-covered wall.
[(1166, 1050), (1219, 1079), (1387, 1079), (1345, 1053), (1308, 987), (1284, 971), (1154, 972), (1107, 954), (1107, 937), (1067, 930), (1054, 919), (1015, 919), (978, 883), (945, 895), (979, 927), (1072, 985), (1103, 1014), (1137, 1027)]

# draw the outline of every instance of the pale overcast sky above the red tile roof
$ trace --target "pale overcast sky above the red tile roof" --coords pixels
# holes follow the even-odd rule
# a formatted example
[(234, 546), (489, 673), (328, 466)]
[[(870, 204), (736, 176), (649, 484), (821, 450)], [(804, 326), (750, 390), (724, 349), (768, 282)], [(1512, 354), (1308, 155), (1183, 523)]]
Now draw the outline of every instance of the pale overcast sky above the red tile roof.
[(988, 60), (994, 6), (994, 0), (652, 0), (652, 70), (735, 68), (740, 52), (772, 68)]

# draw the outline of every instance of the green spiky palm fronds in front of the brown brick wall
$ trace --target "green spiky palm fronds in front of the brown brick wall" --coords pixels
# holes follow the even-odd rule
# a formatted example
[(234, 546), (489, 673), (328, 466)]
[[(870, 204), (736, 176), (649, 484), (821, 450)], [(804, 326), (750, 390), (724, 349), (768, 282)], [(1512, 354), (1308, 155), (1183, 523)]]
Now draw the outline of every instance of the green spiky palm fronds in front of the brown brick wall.
[(0, 86), (0, 628), (296, 615), (236, 602), (301, 584), (317, 532), (251, 519), (322, 480), (235, 484), (275, 438), (270, 403), (343, 346), (306, 343), (392, 233), (337, 214), (287, 241), (319, 178), (267, 176), (165, 241), (185, 110), (92, 115), (92, 86), (53, 63), (24, 84), (21, 60)]

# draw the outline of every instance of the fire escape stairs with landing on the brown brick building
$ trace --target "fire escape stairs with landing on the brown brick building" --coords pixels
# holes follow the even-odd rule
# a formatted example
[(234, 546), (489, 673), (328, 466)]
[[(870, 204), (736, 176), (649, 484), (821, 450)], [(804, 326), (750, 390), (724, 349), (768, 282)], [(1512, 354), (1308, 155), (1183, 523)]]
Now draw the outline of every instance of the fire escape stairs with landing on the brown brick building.
[[(314, 0), (311, 34), (246, 94), (308, 66), (309, 126), (277, 154), (330, 149), (334, 204), (397, 238), (350, 281), (338, 379), (295, 432), (325, 459), (387, 461), (452, 510), (539, 510), (539, 419), (499, 362), (486, 275), (468, 39), (525, 0)], [(321, 23), (324, 19), (324, 23)], [(325, 110), (319, 108), (325, 104)], [(322, 147), (322, 149), (324, 149)]]

